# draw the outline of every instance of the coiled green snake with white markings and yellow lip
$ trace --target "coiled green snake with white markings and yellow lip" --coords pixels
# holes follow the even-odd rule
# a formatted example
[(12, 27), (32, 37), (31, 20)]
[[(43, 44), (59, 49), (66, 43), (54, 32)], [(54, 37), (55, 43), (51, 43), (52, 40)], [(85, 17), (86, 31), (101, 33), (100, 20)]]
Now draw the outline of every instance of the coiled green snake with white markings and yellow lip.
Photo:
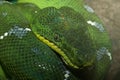
[(1, 80), (103, 80), (111, 42), (82, 0), (0, 2)]

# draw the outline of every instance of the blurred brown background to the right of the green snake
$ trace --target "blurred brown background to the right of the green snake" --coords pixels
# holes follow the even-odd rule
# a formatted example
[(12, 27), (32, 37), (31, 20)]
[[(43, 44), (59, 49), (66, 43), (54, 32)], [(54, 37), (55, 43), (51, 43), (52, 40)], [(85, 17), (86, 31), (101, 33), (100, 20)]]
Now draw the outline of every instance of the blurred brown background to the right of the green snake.
[(113, 63), (106, 80), (120, 80), (120, 0), (84, 0), (103, 21), (113, 44)]

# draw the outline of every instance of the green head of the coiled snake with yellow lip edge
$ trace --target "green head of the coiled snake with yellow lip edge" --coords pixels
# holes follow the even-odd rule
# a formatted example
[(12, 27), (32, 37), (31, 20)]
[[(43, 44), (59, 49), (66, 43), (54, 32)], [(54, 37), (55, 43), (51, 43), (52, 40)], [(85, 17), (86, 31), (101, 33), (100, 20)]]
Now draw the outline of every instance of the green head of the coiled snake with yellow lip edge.
[[(31, 26), (37, 37), (72, 68), (91, 66), (96, 61), (97, 49), (109, 46), (106, 32), (91, 27), (80, 12), (70, 7), (46, 7)], [(96, 36), (104, 39), (97, 40)]]

